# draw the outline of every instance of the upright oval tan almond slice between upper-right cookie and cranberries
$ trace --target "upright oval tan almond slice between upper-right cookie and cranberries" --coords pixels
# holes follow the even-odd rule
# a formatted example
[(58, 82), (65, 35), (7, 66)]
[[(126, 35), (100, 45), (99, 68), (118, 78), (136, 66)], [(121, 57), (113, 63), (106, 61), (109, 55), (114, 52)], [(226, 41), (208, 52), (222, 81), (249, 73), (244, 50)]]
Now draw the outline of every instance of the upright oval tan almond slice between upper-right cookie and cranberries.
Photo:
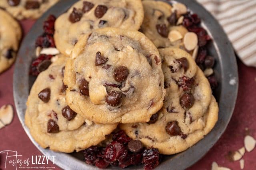
[(198, 38), (196, 33), (194, 32), (187, 32), (183, 38), (183, 43), (185, 48), (188, 51), (191, 51), (196, 48), (196, 45), (198, 43)]

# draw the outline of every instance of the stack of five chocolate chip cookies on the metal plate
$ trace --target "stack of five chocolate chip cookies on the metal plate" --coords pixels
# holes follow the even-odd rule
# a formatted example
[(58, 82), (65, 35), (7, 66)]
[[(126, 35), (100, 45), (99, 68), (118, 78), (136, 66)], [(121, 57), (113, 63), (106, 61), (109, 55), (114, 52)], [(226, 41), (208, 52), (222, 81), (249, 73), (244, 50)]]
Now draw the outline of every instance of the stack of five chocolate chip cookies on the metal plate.
[(33, 138), (73, 152), (121, 129), (167, 155), (202, 139), (216, 124), (218, 104), (191, 56), (196, 34), (177, 26), (186, 12), (154, 0), (80, 0), (59, 16), (60, 54), (28, 97)]

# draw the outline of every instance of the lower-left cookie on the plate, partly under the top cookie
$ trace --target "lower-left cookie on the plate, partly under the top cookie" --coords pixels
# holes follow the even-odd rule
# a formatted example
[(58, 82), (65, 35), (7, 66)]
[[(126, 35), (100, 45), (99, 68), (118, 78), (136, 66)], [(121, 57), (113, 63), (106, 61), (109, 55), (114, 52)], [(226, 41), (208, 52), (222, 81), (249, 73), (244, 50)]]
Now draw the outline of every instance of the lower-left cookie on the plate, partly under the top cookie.
[(59, 56), (38, 75), (28, 97), (25, 123), (43, 148), (73, 152), (100, 143), (117, 125), (97, 125), (68, 106), (62, 74), (66, 59)]

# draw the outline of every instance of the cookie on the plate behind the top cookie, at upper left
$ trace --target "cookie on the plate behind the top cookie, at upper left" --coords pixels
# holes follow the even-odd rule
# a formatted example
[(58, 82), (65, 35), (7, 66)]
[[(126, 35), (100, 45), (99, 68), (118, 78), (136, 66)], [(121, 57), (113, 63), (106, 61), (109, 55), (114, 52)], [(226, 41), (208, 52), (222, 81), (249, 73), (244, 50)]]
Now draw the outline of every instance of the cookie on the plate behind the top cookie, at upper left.
[(143, 17), (141, 0), (80, 0), (57, 18), (56, 47), (69, 55), (83, 34), (105, 27), (138, 30)]

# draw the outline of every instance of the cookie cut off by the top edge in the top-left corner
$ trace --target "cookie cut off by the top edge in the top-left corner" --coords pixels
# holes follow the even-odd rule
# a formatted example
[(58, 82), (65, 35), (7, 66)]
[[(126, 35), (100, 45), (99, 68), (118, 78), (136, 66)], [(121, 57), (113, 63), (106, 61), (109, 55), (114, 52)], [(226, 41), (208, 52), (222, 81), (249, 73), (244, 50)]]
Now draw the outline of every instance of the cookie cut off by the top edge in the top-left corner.
[(4, 8), (14, 18), (37, 19), (59, 0), (0, 0), (0, 7)]

